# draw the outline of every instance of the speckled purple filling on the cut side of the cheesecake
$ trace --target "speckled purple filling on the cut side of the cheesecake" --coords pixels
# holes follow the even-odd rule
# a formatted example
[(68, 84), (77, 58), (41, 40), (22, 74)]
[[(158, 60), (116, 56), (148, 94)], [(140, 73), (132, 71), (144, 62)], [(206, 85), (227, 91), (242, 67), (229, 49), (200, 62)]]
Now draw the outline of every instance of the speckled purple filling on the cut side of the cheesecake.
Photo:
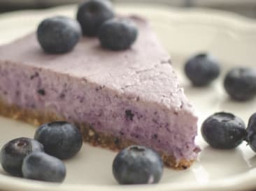
[(195, 157), (197, 118), (182, 110), (182, 105), (180, 111), (170, 110), (86, 79), (9, 62), (0, 65), (0, 82), (0, 97), (10, 104), (87, 122), (99, 132), (174, 153), (177, 159)]

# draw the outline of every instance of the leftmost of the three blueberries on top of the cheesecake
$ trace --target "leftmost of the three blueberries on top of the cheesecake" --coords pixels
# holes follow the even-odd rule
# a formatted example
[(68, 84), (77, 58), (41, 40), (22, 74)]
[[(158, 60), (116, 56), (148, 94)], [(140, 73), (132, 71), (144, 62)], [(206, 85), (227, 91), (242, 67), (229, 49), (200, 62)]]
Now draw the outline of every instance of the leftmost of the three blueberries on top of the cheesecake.
[(45, 52), (59, 54), (71, 51), (82, 36), (79, 23), (68, 17), (50, 17), (37, 29), (37, 39)]

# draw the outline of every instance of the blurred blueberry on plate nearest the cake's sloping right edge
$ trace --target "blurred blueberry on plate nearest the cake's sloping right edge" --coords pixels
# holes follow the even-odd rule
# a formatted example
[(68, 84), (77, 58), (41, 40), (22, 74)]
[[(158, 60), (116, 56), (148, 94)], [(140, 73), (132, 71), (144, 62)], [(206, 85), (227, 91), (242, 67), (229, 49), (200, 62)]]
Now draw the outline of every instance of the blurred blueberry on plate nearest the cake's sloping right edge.
[(213, 56), (201, 53), (185, 63), (185, 74), (194, 86), (206, 86), (220, 75), (220, 66)]

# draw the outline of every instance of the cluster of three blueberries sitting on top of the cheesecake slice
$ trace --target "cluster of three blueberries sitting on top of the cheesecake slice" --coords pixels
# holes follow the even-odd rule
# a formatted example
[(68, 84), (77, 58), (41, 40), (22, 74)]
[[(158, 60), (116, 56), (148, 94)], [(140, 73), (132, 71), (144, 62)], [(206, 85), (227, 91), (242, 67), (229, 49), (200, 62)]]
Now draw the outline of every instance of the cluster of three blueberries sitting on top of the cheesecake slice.
[(78, 7), (77, 20), (56, 16), (43, 20), (37, 29), (41, 47), (50, 54), (70, 52), (84, 36), (99, 38), (101, 47), (128, 49), (136, 40), (136, 24), (115, 17), (110, 1), (89, 0)]

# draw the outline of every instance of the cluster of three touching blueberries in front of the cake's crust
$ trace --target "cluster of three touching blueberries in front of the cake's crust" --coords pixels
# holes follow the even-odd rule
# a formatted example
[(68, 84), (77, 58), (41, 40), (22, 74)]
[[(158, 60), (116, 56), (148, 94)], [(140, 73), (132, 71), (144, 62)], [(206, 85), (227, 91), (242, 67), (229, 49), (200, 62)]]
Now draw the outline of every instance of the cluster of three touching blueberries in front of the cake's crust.
[(76, 155), (83, 144), (78, 128), (62, 121), (38, 127), (34, 139), (20, 137), (6, 143), (0, 152), (3, 169), (13, 176), (39, 181), (62, 182), (62, 160)]

